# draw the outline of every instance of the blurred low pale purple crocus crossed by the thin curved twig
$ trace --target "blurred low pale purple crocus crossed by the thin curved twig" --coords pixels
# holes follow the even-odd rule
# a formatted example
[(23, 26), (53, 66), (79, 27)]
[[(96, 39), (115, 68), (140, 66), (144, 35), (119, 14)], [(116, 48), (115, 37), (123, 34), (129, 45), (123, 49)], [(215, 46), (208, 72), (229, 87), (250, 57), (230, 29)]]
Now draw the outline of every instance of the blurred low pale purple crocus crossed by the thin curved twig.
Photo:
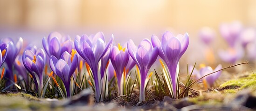
[[(201, 77), (207, 75), (207, 74), (210, 74), (210, 73), (213, 73), (215, 71), (218, 71), (222, 68), (221, 64), (219, 64), (214, 70), (213, 68), (209, 67), (209, 66), (204, 66), (204, 65), (201, 65), (201, 69), (198, 71), (196, 68), (194, 68), (194, 71), (193, 71), (193, 75), (195, 75), (195, 78), (196, 79), (200, 79)], [(189, 72), (192, 72), (193, 70), (193, 66), (190, 66), (188, 71)], [(214, 82), (215, 80), (217, 80), (221, 75), (221, 71), (219, 72), (216, 72), (216, 73), (213, 73), (213, 74), (210, 74), (206, 77), (203, 78), (203, 80), (201, 81), (206, 81), (207, 83), (205, 83), (205, 86), (210, 86), (210, 87), (213, 87), (214, 86)]]

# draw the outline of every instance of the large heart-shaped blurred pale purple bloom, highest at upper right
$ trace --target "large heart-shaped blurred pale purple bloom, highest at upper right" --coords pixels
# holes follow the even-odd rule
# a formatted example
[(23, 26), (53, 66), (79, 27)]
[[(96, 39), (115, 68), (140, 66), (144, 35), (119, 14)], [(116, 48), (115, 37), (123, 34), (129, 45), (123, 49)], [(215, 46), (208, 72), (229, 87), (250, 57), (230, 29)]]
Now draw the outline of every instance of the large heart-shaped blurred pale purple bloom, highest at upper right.
[(221, 36), (228, 42), (230, 47), (235, 46), (241, 31), (242, 23), (239, 21), (234, 21), (231, 24), (223, 23), (220, 26)]

